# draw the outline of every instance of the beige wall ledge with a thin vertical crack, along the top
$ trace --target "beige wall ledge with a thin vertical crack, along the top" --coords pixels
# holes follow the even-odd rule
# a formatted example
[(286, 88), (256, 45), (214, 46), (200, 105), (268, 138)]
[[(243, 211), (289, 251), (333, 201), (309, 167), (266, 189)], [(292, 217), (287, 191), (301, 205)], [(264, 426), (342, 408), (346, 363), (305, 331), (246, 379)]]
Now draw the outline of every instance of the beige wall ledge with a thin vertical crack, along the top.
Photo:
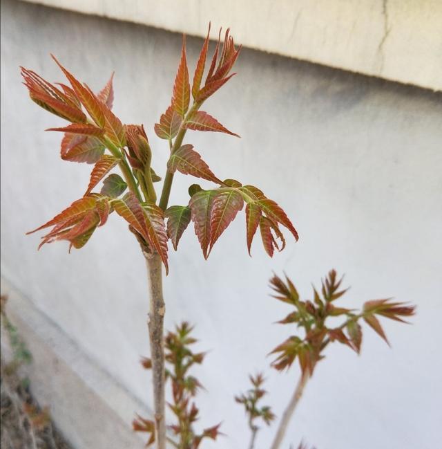
[(442, 0), (26, 0), (442, 90)]

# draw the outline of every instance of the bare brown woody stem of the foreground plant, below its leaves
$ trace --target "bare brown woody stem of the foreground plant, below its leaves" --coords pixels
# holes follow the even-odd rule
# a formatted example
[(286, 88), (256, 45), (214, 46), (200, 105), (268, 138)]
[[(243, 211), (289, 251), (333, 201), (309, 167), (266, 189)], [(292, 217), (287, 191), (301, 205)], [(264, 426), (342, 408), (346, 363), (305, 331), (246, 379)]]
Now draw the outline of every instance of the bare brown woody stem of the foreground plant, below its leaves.
[(146, 255), (149, 279), (148, 329), (151, 341), (153, 401), (155, 410), (155, 443), (157, 449), (166, 448), (164, 406), (164, 313), (166, 307), (162, 291), (162, 262), (158, 254)]

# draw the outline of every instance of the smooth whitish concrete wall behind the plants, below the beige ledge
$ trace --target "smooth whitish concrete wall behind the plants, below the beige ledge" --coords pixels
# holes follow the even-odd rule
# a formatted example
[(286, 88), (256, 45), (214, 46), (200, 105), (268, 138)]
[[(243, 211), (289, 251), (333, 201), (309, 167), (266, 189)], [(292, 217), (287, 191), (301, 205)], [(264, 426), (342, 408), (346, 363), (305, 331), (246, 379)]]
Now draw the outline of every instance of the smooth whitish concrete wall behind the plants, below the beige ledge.
[[(188, 41), (195, 63), (200, 39)], [(1, 2), (1, 270), (90, 358), (144, 403), (150, 378), (146, 273), (133, 236), (111, 216), (80, 251), (65, 244), (37, 252), (27, 230), (79, 198), (90, 166), (59, 158), (63, 121), (32, 104), (19, 65), (48, 80), (62, 76), (48, 53), (99, 89), (115, 70), (114, 110), (146, 125), (153, 167), (164, 170), (164, 141), (153, 133), (170, 101), (181, 37), (28, 3)], [(244, 50), (238, 75), (206, 111), (236, 139), (190, 132), (221, 178), (258, 185), (283, 205), (300, 241), (269, 259), (256, 239), (247, 255), (244, 216), (222, 235), (207, 262), (189, 228), (171, 250), (165, 280), (166, 327), (197, 323), (200, 424), (223, 421), (218, 446), (243, 448), (249, 432), (233, 395), (247, 374), (265, 369), (278, 416), (298, 369), (277, 374), (266, 354), (289, 329), (272, 324), (289, 312), (269, 297), (272, 271), (287, 272), (303, 295), (330, 268), (352, 285), (347, 306), (395, 296), (418, 304), (412, 326), (386, 322), (392, 349), (365, 329), (357, 357), (334, 347), (320, 363), (296, 412), (287, 443), (318, 449), (430, 449), (441, 438), (442, 95)], [(175, 182), (176, 181), (176, 182)], [(171, 204), (188, 201), (194, 178), (176, 176)], [(135, 410), (134, 410), (135, 412)], [(97, 429), (99, 432), (99, 429)], [(271, 429), (262, 429), (260, 448)], [(112, 447), (112, 446), (110, 446)]]

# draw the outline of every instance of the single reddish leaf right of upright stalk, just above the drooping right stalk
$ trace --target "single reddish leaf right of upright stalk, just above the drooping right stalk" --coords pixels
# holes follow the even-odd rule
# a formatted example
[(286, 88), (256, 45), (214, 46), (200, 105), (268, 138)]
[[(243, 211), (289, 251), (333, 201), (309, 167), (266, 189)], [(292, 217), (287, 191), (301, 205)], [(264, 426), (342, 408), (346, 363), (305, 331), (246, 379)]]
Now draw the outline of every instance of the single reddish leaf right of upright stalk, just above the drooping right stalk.
[(204, 178), (214, 183), (222, 184), (201, 158), (200, 154), (193, 150), (193, 145), (182, 145), (171, 155), (167, 163), (167, 169), (171, 173), (176, 170), (182, 174), (191, 174), (197, 178)]

